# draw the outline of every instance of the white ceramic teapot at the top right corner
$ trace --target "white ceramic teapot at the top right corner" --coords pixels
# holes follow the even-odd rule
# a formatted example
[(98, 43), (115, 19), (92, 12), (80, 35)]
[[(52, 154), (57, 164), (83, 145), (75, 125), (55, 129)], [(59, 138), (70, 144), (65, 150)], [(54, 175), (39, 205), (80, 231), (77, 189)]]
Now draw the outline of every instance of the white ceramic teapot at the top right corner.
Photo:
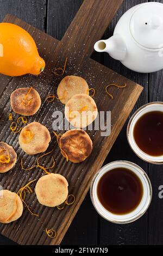
[(162, 69), (163, 4), (149, 2), (129, 9), (118, 21), (114, 35), (97, 41), (94, 48), (137, 72)]

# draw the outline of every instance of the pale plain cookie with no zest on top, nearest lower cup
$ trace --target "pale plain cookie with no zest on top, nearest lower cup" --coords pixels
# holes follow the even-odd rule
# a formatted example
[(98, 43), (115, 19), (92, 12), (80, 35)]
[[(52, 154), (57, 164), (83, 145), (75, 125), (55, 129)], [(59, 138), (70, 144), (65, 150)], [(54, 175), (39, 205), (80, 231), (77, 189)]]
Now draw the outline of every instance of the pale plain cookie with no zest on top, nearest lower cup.
[(37, 181), (35, 193), (40, 204), (55, 207), (65, 202), (68, 182), (60, 174), (47, 174)]

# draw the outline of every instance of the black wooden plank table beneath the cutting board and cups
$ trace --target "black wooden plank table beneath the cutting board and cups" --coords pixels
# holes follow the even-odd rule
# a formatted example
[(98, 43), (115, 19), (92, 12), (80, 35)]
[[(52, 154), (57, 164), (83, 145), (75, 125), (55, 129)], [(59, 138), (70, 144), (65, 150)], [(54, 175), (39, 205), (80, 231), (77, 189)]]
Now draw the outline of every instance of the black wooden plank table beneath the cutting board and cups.
[[(6, 14), (11, 13), (55, 38), (61, 39), (82, 2), (82, 0), (0, 0), (0, 20), (2, 21)], [(145, 2), (152, 1), (124, 0), (106, 30), (104, 38), (109, 38), (112, 35), (117, 21), (125, 11), (136, 4)], [(163, 3), (163, 0), (155, 2)], [(93, 53), (92, 58), (144, 87), (132, 113), (147, 102), (163, 101), (162, 71), (139, 74), (125, 68), (120, 62), (105, 53)], [(127, 123), (104, 164), (115, 160), (128, 160), (139, 164), (147, 172), (153, 186), (153, 199), (148, 212), (134, 223), (112, 224), (97, 214), (91, 204), (90, 195), (87, 194), (64, 240), (62, 240), (62, 245), (163, 244), (163, 199), (158, 197), (158, 188), (163, 185), (163, 167), (162, 165), (148, 164), (133, 153), (126, 138)], [(0, 245), (13, 244), (15, 243), (0, 235)]]

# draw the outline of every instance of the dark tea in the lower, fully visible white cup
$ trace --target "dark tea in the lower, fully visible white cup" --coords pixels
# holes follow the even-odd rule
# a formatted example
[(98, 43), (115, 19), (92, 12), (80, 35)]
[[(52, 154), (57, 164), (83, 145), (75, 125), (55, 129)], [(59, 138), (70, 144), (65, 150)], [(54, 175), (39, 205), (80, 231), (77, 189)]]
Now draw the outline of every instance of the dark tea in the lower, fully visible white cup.
[(104, 208), (113, 214), (128, 214), (140, 204), (143, 186), (139, 177), (126, 168), (105, 173), (97, 185), (97, 196)]

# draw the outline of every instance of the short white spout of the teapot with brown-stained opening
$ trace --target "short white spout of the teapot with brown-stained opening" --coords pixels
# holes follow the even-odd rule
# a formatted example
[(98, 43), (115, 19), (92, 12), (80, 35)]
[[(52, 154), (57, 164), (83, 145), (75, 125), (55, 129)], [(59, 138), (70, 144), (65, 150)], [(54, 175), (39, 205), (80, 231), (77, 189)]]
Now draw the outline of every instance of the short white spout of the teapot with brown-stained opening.
[(126, 57), (126, 45), (118, 34), (109, 39), (97, 41), (94, 49), (97, 52), (108, 52), (112, 58), (117, 60), (124, 60)]

